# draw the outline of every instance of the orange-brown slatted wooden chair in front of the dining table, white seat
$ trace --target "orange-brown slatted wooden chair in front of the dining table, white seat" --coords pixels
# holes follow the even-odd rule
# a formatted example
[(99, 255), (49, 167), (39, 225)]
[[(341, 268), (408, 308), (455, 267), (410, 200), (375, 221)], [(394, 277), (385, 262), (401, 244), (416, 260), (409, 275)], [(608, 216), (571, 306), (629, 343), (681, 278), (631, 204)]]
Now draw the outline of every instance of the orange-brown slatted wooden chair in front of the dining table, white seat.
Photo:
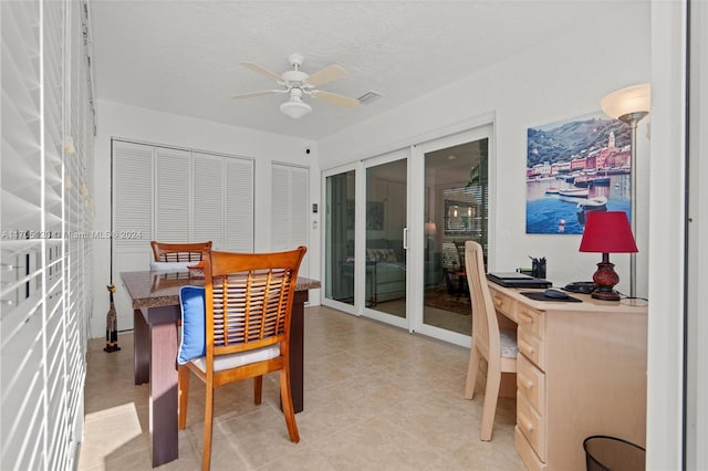
[(280, 371), (280, 398), (290, 440), (300, 441), (290, 389), (290, 321), (298, 270), (306, 249), (279, 253), (207, 252), (206, 356), (179, 365), (179, 428), (187, 426), (189, 371), (206, 384), (204, 454), (211, 461), (214, 390), (254, 378), (261, 404), (263, 375)]

